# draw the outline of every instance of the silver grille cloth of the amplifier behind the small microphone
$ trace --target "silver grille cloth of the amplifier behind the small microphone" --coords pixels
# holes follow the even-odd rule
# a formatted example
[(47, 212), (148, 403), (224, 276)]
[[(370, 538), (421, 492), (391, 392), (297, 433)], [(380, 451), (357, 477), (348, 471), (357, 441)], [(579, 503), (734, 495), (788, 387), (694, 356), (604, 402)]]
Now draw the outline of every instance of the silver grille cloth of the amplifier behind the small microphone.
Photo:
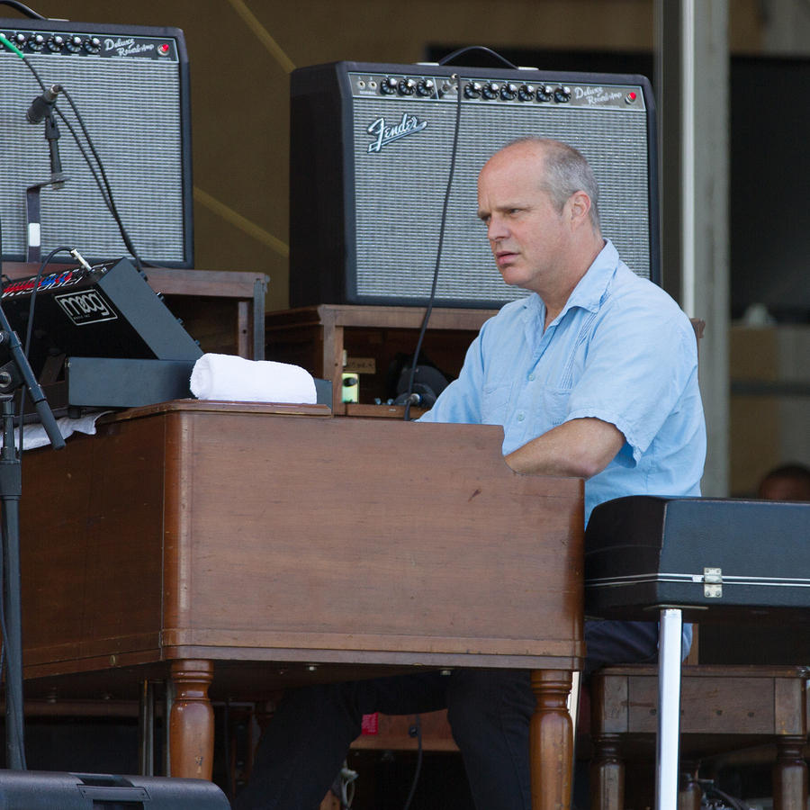
[[(46, 86), (67, 88), (85, 121), (112, 185), (112, 195), (132, 243), (144, 259), (183, 262), (183, 184), (180, 74), (176, 62), (148, 59), (69, 58), (26, 54)], [(25, 112), (41, 93), (31, 72), (12, 54), (0, 57), (0, 198), (5, 256), (25, 254), (25, 189), (50, 177), (44, 123)], [(81, 132), (67, 100), (58, 108)], [(62, 166), (59, 190), (41, 191), (42, 255), (78, 247), (87, 257), (127, 253), (112, 214), (76, 141), (57, 116)], [(86, 148), (86, 147), (85, 147)], [(89, 153), (89, 151), (88, 151)]]

